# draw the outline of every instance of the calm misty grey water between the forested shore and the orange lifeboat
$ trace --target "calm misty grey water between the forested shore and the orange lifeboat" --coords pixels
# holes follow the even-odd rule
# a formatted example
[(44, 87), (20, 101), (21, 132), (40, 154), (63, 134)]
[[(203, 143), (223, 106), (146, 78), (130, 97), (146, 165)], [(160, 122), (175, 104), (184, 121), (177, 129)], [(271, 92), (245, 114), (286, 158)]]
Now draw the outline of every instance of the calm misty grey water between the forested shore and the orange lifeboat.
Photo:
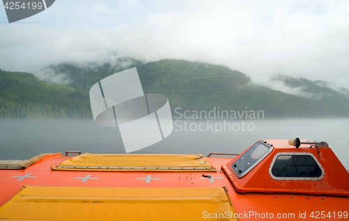
[[(259, 139), (305, 138), (326, 141), (342, 164), (349, 169), (349, 119), (306, 120), (250, 120), (230, 121), (228, 126), (214, 131), (210, 121), (176, 122), (172, 134), (165, 140), (134, 153), (191, 153), (208, 155), (209, 152), (240, 153)], [(195, 127), (202, 123), (201, 130)], [(248, 131), (247, 124), (249, 125)], [(217, 130), (223, 121), (217, 121)], [(180, 127), (177, 126), (181, 126)], [(228, 124), (227, 124), (228, 125)], [(254, 130), (253, 130), (254, 126)], [(209, 128), (207, 128), (209, 127)], [(99, 127), (93, 120), (0, 120), (0, 159), (29, 159), (44, 152), (81, 150), (90, 153), (124, 153), (119, 130)]]

